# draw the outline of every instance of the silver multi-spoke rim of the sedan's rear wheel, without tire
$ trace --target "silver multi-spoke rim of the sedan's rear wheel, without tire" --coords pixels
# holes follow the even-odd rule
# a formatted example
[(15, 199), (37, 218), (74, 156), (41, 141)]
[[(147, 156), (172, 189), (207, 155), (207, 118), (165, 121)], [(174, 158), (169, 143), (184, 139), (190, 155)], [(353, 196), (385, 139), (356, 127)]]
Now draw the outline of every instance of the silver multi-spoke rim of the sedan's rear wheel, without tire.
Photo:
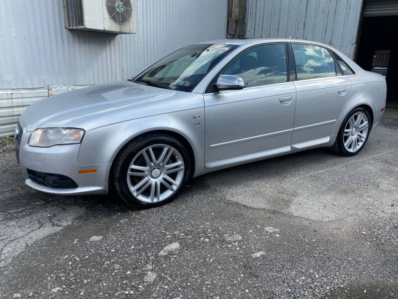
[(369, 120), (365, 113), (357, 112), (348, 120), (343, 135), (344, 148), (356, 152), (365, 144), (369, 132)]

